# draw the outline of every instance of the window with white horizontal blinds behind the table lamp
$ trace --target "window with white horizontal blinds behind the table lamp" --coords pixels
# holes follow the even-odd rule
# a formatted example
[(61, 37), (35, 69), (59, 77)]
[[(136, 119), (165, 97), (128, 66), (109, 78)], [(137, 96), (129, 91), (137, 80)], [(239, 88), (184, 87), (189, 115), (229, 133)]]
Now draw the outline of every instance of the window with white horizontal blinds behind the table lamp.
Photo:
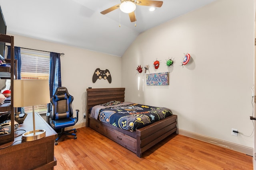
[[(49, 79), (50, 53), (21, 49), (21, 79)], [(35, 94), (36, 95), (36, 94)], [(25, 113), (32, 112), (31, 107), (24, 107)], [(38, 113), (47, 112), (47, 104), (34, 106)]]

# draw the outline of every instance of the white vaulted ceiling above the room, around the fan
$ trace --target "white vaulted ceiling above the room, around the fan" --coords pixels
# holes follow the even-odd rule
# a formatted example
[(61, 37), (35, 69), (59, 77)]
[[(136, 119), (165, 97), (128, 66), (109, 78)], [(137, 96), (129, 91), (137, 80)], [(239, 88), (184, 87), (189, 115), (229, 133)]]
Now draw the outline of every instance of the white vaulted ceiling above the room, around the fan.
[(121, 57), (143, 31), (215, 0), (162, 1), (154, 12), (137, 5), (136, 27), (119, 9), (100, 14), (120, 0), (0, 0), (0, 6), (8, 33)]

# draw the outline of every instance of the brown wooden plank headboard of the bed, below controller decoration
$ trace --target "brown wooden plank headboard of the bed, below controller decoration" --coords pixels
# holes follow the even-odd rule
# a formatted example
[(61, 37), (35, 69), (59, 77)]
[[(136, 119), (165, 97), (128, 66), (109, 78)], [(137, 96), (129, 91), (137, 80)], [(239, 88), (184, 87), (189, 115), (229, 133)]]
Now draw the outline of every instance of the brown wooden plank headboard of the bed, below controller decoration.
[(86, 89), (86, 127), (88, 127), (88, 118), (90, 108), (98, 104), (104, 104), (109, 101), (124, 102), (125, 88), (88, 88)]

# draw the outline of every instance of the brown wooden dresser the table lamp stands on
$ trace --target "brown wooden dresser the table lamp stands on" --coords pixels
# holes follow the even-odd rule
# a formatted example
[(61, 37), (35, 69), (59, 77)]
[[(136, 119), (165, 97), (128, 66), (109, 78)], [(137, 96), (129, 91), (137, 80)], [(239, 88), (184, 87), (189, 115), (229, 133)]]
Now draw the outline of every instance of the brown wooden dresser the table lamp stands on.
[[(46, 137), (30, 142), (22, 142), (22, 136), (15, 137), (13, 145), (4, 149), (0, 149), (0, 169), (54, 169), (54, 166), (57, 163), (54, 157), (54, 140), (58, 137), (58, 135), (38, 113), (35, 113), (35, 124), (36, 129), (46, 130)], [(24, 120), (24, 123), (20, 124), (19, 129), (24, 129), (26, 131), (33, 130), (32, 113), (28, 113), (26, 119)], [(23, 131), (18, 132), (19, 134), (23, 133)], [(3, 148), (4, 145), (0, 145), (0, 148)]]

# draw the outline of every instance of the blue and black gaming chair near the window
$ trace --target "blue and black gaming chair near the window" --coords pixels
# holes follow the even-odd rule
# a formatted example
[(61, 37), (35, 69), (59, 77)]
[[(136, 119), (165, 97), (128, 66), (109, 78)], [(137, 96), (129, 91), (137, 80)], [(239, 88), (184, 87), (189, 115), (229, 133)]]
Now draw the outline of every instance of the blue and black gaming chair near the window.
[[(76, 139), (76, 129), (64, 130), (65, 127), (74, 126), (78, 121), (78, 109), (76, 110), (76, 117), (73, 117), (73, 100), (73, 96), (68, 93), (66, 87), (58, 87), (55, 94), (50, 98), (52, 110), (51, 113), (48, 113), (48, 123), (58, 132), (55, 145), (58, 145), (58, 139), (62, 135), (73, 135)], [(74, 133), (70, 133), (71, 131), (74, 131)]]

